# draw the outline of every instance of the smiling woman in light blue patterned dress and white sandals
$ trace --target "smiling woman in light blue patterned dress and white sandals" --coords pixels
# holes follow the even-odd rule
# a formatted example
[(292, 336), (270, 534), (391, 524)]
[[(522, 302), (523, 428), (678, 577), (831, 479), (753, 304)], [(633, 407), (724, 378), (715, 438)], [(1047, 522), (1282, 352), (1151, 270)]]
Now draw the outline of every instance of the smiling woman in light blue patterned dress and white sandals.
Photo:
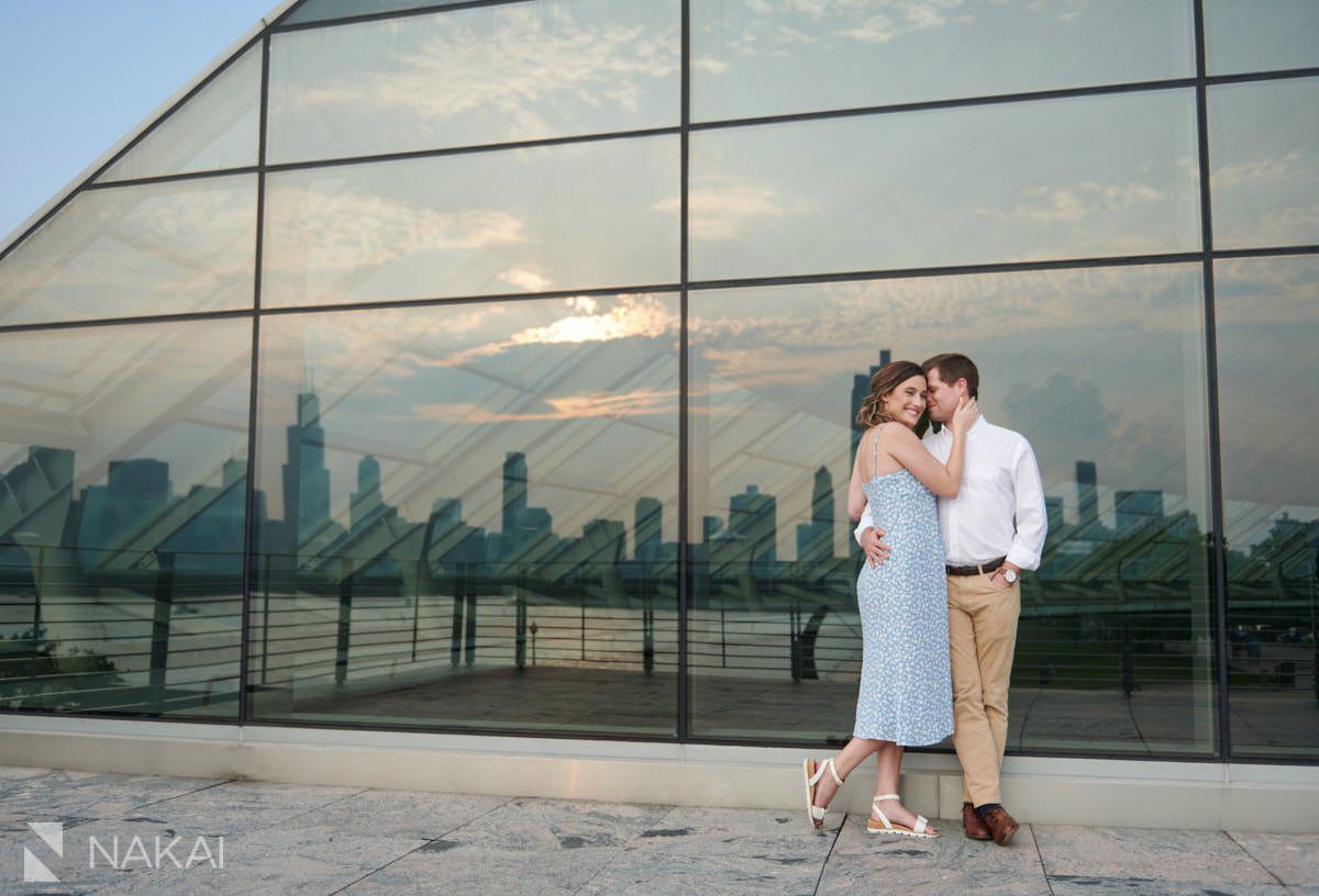
[(952, 733), (948, 596), (934, 495), (956, 497), (967, 431), (980, 411), (975, 399), (959, 403), (950, 424), (952, 453), (940, 464), (918, 436), (925, 397), (921, 366), (894, 361), (871, 378), (856, 416), (867, 431), (852, 465), (847, 513), (860, 519), (869, 501), (893, 552), (881, 567), (863, 564), (856, 581), (863, 660), (852, 739), (819, 767), (814, 759), (803, 763), (815, 829), (824, 826), (824, 808), (848, 773), (873, 752), (880, 775), (867, 833), (939, 833), (902, 805), (897, 789), (902, 747), (938, 743)]

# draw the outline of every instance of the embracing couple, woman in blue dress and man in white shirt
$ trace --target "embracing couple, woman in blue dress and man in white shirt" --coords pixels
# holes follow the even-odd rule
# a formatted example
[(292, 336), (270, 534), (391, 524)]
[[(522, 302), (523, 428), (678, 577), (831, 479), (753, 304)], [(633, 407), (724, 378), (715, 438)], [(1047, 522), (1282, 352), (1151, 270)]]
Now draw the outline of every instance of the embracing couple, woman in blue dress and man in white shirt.
[[(962, 763), (962, 825), (1006, 846), (1002, 808), (1008, 681), (1021, 610), (1018, 574), (1039, 565), (1045, 495), (1030, 443), (980, 416), (980, 374), (964, 354), (894, 361), (871, 378), (857, 422), (848, 517), (867, 561), (857, 577), (861, 685), (852, 738), (803, 763), (811, 825), (871, 754), (878, 781), (867, 833), (936, 837), (902, 805), (906, 746), (952, 734)], [(939, 432), (921, 437), (922, 415)]]

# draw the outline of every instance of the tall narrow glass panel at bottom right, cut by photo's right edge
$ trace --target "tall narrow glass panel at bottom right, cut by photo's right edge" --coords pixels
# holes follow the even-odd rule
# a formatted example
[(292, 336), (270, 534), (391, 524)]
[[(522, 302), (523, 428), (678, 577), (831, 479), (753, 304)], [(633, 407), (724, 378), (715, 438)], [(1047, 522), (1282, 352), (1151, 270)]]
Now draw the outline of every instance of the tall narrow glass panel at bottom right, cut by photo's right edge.
[(1319, 257), (1215, 274), (1232, 754), (1319, 758)]

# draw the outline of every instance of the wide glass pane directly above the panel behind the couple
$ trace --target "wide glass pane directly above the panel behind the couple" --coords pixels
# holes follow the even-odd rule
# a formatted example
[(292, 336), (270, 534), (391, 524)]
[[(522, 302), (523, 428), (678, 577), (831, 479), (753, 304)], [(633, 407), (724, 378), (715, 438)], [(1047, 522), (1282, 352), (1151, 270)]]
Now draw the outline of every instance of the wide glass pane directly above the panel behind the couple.
[(1194, 100), (1158, 91), (692, 134), (692, 275), (1199, 249)]

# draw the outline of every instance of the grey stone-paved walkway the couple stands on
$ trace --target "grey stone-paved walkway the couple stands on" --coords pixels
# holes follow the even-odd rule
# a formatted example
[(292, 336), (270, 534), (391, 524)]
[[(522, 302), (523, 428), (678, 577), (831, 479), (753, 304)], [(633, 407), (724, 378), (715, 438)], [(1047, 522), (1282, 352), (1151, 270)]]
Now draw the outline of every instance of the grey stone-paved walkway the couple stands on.
[(0, 892), (1319, 896), (1316, 834), (1024, 824), (997, 847), (803, 816), (0, 768)]

